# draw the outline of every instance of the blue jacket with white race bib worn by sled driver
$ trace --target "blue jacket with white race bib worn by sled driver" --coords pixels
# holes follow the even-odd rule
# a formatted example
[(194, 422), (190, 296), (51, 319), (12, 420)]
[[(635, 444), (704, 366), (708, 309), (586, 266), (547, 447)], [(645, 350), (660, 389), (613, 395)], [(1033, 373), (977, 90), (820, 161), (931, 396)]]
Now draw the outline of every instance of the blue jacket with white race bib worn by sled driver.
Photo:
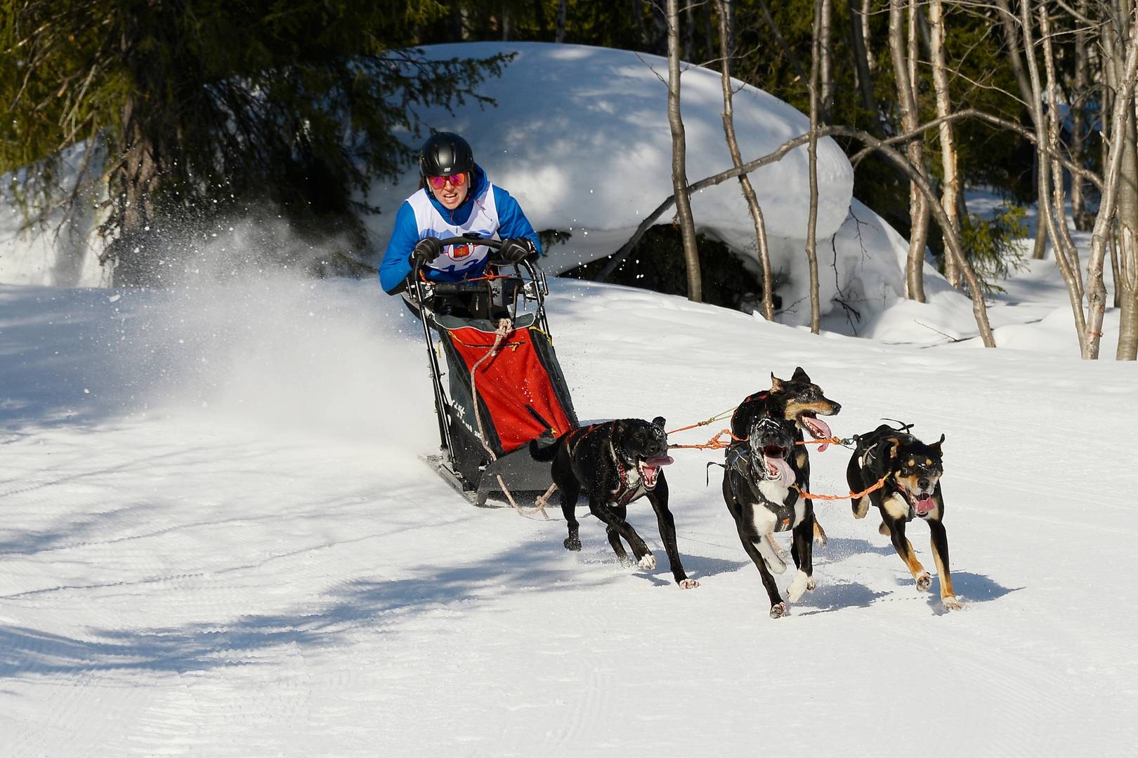
[[(415, 243), (428, 236), (446, 239), (470, 232), (500, 240), (523, 236), (531, 240), (541, 253), (537, 232), (521, 213), (518, 201), (502, 188), (490, 184), (481, 166), (475, 166), (473, 175), (467, 199), (454, 210), (447, 210), (426, 189), (403, 201), (395, 215), (395, 230), (387, 243), (384, 261), (379, 265), (379, 283), (385, 292), (394, 292), (407, 277), (411, 273), (407, 257)], [(490, 249), (484, 244), (447, 245), (434, 263), (427, 265), (427, 278), (459, 282), (480, 276), (489, 252)]]

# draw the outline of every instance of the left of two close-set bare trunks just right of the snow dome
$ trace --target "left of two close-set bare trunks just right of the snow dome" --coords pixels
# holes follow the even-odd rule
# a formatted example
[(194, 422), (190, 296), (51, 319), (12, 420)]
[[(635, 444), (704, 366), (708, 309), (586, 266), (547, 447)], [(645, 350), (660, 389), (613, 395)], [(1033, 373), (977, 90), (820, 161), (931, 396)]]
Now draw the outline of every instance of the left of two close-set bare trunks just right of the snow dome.
[[(917, 100), (914, 92), (914, 80), (910, 77), (910, 60), (906, 55), (905, 38), (901, 34), (901, 14), (904, 13), (905, 0), (890, 0), (889, 2), (889, 48), (893, 59), (893, 76), (897, 80), (898, 101), (901, 107), (901, 128), (906, 132), (916, 130), (918, 123)], [(915, 9), (914, 9), (915, 10)], [(916, 24), (910, 23), (910, 42)], [(909, 45), (912, 48), (912, 44)], [(909, 163), (917, 170), (924, 165), (924, 151), (922, 150), (922, 138), (909, 140), (906, 149)], [(922, 172), (923, 174), (923, 172)], [(929, 234), (929, 207), (925, 198), (916, 188), (909, 183), (909, 219), (912, 228), (909, 231), (909, 255), (905, 265), (906, 297), (917, 302), (924, 302), (924, 248)], [(983, 297), (982, 293), (973, 293), (974, 297)]]

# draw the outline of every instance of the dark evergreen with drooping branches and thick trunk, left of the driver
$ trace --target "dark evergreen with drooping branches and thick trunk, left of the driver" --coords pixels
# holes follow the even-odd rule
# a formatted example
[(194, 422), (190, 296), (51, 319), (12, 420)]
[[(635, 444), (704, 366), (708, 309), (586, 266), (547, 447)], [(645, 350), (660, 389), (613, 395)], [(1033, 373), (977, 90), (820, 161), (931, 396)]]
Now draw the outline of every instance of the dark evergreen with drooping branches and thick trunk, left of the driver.
[[(406, 165), (415, 105), (478, 99), (503, 63), (428, 63), (430, 0), (0, 0), (0, 173), (25, 209), (104, 201), (116, 283), (151, 281), (164, 231), (271, 205), (362, 248), (355, 200)], [(85, 145), (63, 188), (65, 151)], [(20, 167), (30, 167), (22, 169)], [(30, 215), (31, 217), (31, 215)]]

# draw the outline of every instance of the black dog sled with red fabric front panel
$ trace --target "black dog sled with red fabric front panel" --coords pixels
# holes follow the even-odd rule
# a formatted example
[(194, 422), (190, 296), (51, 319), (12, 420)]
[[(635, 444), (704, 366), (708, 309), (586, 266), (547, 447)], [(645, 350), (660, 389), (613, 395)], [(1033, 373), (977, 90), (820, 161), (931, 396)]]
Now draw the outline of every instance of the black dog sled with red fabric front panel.
[[(501, 242), (475, 235), (442, 244)], [(530, 440), (577, 426), (569, 389), (545, 319), (545, 275), (529, 261), (463, 282), (427, 281), (417, 267), (404, 291), (422, 323), (435, 389), (438, 474), (470, 502), (490, 493), (542, 493), (550, 466), (535, 461)]]

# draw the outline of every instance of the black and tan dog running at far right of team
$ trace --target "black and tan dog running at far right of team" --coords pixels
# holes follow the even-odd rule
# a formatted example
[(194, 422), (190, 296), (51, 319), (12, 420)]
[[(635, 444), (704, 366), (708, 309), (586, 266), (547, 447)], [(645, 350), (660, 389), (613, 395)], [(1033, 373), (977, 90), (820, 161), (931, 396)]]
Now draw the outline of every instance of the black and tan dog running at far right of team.
[[(908, 427), (905, 427), (908, 428)], [(932, 584), (913, 551), (913, 543), (905, 536), (905, 526), (913, 518), (929, 524), (932, 557), (940, 576), (940, 600), (945, 608), (958, 610), (964, 605), (953, 592), (953, 574), (948, 565), (948, 534), (945, 532), (945, 498), (940, 477), (945, 473), (940, 445), (945, 435), (925, 444), (905, 430), (882, 424), (873, 432), (857, 438), (857, 447), (846, 469), (850, 492), (863, 492), (884, 477), (884, 484), (852, 498), (853, 516), (865, 518), (872, 502), (881, 511), (882, 534), (889, 536), (897, 555), (908, 567), (917, 589), (927, 590)]]

